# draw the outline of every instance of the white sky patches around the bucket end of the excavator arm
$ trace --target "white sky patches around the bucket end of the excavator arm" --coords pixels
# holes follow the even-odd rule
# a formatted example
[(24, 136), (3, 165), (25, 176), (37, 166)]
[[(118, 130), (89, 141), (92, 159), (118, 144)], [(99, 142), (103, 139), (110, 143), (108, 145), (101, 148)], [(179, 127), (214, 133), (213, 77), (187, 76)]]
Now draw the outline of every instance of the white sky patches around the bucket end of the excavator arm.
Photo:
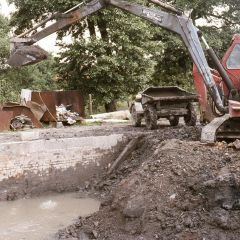
[[(6, 17), (9, 17), (12, 12), (14, 12), (15, 7), (14, 5), (8, 5), (6, 0), (0, 0), (0, 13)], [(57, 34), (52, 34), (49, 37), (46, 37), (39, 41), (37, 45), (42, 47), (44, 50), (57, 54), (59, 52), (59, 48), (55, 45), (56, 44), (56, 37)], [(65, 39), (65, 42), (69, 42), (69, 38)]]

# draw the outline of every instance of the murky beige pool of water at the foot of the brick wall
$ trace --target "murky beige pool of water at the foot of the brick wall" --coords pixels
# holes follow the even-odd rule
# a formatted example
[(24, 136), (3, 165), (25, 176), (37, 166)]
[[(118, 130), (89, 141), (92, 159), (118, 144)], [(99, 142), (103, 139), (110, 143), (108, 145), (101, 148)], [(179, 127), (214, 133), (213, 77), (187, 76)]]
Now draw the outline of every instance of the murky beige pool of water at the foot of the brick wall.
[(78, 216), (99, 210), (94, 199), (61, 194), (0, 202), (0, 240), (49, 240)]

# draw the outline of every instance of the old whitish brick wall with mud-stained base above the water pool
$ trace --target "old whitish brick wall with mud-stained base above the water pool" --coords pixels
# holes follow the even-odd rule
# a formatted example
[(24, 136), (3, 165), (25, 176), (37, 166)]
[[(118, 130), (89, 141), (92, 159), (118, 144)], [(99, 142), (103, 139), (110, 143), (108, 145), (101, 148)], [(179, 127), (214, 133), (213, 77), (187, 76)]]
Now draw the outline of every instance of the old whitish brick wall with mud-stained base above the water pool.
[(14, 139), (0, 143), (0, 199), (77, 190), (127, 141), (124, 134), (45, 139), (36, 131)]

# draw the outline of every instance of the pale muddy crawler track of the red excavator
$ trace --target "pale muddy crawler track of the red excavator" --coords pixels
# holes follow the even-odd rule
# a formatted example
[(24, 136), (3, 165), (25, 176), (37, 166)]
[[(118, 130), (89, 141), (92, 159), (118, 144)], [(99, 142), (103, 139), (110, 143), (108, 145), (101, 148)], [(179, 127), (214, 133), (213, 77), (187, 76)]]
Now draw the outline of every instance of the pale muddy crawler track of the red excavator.
[(201, 141), (214, 143), (216, 141), (234, 141), (240, 138), (240, 118), (231, 118), (229, 114), (213, 119), (203, 127)]

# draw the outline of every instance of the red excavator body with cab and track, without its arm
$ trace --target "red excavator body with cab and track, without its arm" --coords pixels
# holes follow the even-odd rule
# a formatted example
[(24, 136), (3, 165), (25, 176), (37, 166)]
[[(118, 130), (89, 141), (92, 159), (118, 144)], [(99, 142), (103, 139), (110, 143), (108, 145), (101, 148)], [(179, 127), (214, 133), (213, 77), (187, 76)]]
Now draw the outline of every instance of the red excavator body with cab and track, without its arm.
[(211, 69), (211, 73), (222, 102), (229, 109), (228, 114), (221, 114), (216, 110), (214, 102), (207, 94), (201, 74), (196, 66), (193, 67), (194, 82), (199, 94), (201, 121), (209, 123), (202, 130), (201, 139), (204, 142), (231, 141), (240, 137), (240, 35), (233, 36), (221, 62), (235, 89), (236, 99), (232, 99), (233, 96), (219, 72)]

